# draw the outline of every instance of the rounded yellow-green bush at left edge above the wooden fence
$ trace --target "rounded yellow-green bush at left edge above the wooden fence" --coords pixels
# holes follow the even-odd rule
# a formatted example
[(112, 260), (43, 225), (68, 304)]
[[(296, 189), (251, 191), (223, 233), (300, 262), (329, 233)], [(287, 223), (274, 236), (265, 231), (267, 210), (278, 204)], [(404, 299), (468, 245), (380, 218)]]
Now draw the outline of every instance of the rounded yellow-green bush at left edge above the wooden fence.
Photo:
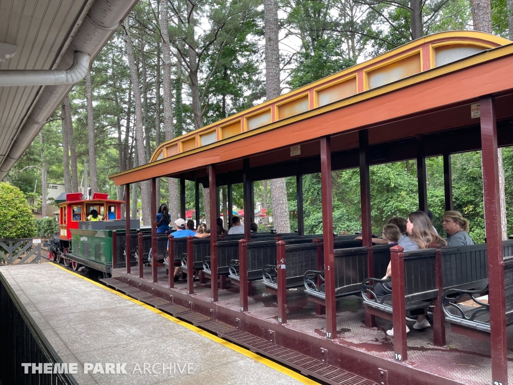
[(0, 182), (0, 239), (32, 238), (34, 215), (23, 192)]

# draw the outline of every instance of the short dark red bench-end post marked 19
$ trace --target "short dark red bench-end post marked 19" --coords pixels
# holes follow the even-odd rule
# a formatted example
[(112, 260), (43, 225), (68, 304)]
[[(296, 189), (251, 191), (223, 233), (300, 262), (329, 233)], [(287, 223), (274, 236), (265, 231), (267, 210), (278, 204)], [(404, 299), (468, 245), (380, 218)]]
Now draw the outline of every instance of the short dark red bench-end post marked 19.
[(397, 361), (408, 359), (406, 344), (406, 302), (404, 300), (404, 248), (390, 248), (392, 261), (393, 350)]

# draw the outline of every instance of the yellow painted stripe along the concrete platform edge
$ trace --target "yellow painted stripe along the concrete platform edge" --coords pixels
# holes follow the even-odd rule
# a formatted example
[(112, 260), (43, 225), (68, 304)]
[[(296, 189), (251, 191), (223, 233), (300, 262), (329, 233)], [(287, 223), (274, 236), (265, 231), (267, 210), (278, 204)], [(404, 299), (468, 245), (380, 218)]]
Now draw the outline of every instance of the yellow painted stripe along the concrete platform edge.
[(285, 368), (284, 366), (280, 365), (279, 363), (276, 363), (274, 361), (271, 361), (268, 358), (265, 358), (265, 357), (260, 356), (260, 355), (258, 355), (256, 353), (253, 353), (250, 350), (247, 350), (245, 348), (240, 347), (239, 345), (235, 345), (234, 343), (226, 341), (226, 340), (224, 340), (224, 339), (222, 339), (222, 338), (220, 338), (220, 337), (218, 337), (218, 336), (216, 336), (216, 335), (214, 335), (214, 334), (212, 334), (210, 332), (207, 332), (206, 330), (197, 328), (196, 326), (191, 325), (188, 322), (181, 321), (181, 320), (179, 320), (177, 318), (174, 318), (173, 316), (171, 316), (169, 314), (166, 314), (163, 311), (161, 311), (159, 309), (156, 309), (153, 306), (150, 306), (150, 305), (148, 305), (148, 304), (146, 304), (144, 302), (138, 301), (138, 300), (136, 300), (136, 299), (134, 299), (132, 297), (129, 297), (129, 296), (123, 294), (123, 293), (120, 293), (120, 292), (118, 292), (116, 290), (113, 290), (110, 287), (107, 287), (107, 286), (105, 286), (105, 285), (103, 285), (101, 283), (94, 282), (93, 280), (91, 280), (91, 279), (89, 279), (87, 277), (84, 277), (84, 276), (82, 276), (80, 274), (77, 274), (75, 272), (69, 271), (67, 268), (65, 268), (63, 266), (56, 265), (55, 263), (52, 263), (52, 265), (55, 266), (55, 267), (58, 267), (58, 268), (60, 268), (62, 270), (64, 270), (65, 272), (67, 272), (69, 274), (73, 274), (73, 275), (75, 275), (75, 276), (77, 276), (79, 278), (82, 278), (82, 279), (84, 279), (84, 280), (86, 280), (86, 281), (88, 281), (88, 282), (90, 282), (90, 283), (92, 283), (92, 284), (94, 284), (94, 285), (96, 285), (98, 287), (101, 287), (101, 288), (103, 288), (103, 289), (105, 289), (105, 290), (107, 290), (107, 291), (109, 291), (111, 293), (119, 295), (120, 297), (125, 298), (125, 299), (127, 299), (127, 300), (129, 300), (129, 301), (131, 301), (133, 303), (136, 303), (138, 305), (144, 306), (144, 307), (146, 307), (146, 309), (151, 310), (155, 314), (158, 314), (158, 315), (160, 315), (160, 316), (162, 316), (164, 318), (167, 318), (168, 320), (170, 320), (170, 321), (172, 321), (174, 323), (182, 325), (182, 326), (184, 326), (184, 328), (187, 328), (187, 329), (193, 331), (194, 333), (198, 333), (198, 334), (200, 334), (200, 335), (202, 335), (202, 336), (204, 336), (204, 337), (206, 337), (206, 338), (208, 338), (208, 339), (210, 339), (210, 340), (212, 340), (214, 342), (217, 342), (217, 343), (225, 346), (228, 349), (231, 349), (231, 350), (233, 350), (233, 351), (235, 351), (237, 353), (245, 355), (246, 357), (254, 359), (255, 361), (263, 363), (264, 365), (267, 365), (269, 368), (272, 368), (272, 369), (274, 369), (274, 370), (276, 370), (276, 371), (278, 371), (280, 373), (286, 374), (287, 376), (292, 377), (293, 379), (298, 380), (301, 383), (305, 383), (307, 385), (319, 384), (319, 382), (313, 381), (310, 378), (305, 377), (305, 376), (299, 374), (298, 372), (295, 372), (293, 370)]

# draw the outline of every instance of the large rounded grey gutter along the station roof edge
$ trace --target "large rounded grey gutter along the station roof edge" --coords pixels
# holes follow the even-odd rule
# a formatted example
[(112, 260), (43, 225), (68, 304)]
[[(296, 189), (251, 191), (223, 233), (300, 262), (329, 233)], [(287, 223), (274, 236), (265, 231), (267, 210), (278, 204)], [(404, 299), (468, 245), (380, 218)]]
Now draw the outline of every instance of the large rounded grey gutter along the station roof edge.
[[(71, 70), (75, 52), (89, 55), (92, 62), (136, 3), (137, 0), (96, 0), (55, 69)], [(23, 155), (72, 87), (73, 84), (48, 85), (43, 88), (41, 97), (0, 164), (0, 180), (5, 178), (14, 163)]]

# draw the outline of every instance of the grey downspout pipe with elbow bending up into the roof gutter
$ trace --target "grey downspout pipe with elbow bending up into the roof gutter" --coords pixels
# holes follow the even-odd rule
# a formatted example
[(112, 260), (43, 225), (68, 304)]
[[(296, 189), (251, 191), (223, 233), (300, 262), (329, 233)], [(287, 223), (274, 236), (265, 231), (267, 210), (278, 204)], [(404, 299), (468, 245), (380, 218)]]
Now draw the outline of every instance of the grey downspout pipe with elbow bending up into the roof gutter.
[(64, 70), (2, 70), (0, 87), (73, 85), (84, 79), (89, 55), (75, 52), (73, 65)]

